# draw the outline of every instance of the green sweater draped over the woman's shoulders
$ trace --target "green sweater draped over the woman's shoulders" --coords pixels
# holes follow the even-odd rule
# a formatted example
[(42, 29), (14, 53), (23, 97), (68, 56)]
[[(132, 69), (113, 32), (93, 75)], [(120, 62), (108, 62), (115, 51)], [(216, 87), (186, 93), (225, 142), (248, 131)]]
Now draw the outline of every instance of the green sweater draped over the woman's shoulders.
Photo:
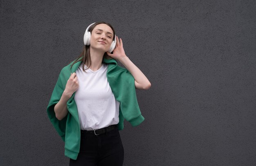
[[(65, 141), (65, 156), (76, 159), (80, 149), (80, 125), (74, 100), (75, 93), (67, 101), (68, 113), (63, 120), (58, 120), (54, 112), (54, 106), (61, 99), (70, 73), (76, 72), (76, 69), (81, 64), (81, 61), (76, 62), (70, 69), (73, 62), (61, 70), (47, 106), (47, 114), (54, 128)], [(133, 76), (127, 69), (118, 66), (117, 61), (114, 59), (103, 58), (103, 62), (108, 64), (107, 79), (115, 99), (120, 102), (118, 129), (124, 129), (124, 119), (130, 122), (132, 126), (141, 124), (144, 121), (144, 117), (139, 110)]]

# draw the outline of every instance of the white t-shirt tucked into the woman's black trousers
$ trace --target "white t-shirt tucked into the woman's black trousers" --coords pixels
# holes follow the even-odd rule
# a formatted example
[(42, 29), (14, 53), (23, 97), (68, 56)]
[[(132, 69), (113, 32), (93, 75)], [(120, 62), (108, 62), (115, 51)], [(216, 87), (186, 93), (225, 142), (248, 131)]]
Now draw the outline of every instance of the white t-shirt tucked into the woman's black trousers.
[[(85, 69), (87, 66), (85, 66)], [(95, 130), (119, 123), (119, 105), (107, 80), (108, 65), (97, 71), (76, 70), (79, 83), (74, 100), (77, 105), (81, 130)]]

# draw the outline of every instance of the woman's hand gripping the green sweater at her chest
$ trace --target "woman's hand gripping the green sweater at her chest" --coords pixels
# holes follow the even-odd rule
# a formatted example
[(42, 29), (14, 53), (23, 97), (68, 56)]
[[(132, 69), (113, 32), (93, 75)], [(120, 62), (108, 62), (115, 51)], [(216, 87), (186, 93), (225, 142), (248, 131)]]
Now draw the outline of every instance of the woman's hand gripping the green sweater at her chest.
[(66, 88), (64, 91), (67, 95), (71, 97), (72, 94), (78, 89), (78, 87), (79, 84), (76, 73), (71, 73), (70, 78), (67, 80)]

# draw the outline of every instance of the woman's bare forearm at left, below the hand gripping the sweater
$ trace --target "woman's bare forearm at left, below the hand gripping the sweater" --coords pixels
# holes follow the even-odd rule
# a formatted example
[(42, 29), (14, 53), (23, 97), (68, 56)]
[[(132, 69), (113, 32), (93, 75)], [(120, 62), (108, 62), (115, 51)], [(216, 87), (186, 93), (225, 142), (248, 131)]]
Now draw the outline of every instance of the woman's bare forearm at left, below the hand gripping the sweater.
[(71, 96), (64, 91), (60, 101), (54, 106), (55, 116), (58, 120), (62, 120), (67, 115), (67, 101), (70, 97)]

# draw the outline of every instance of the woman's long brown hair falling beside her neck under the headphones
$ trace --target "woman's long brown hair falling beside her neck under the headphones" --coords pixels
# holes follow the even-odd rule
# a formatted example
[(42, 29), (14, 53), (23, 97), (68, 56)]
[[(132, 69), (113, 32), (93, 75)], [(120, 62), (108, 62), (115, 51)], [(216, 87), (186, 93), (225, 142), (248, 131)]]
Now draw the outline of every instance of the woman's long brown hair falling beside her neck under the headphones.
[[(96, 22), (95, 24), (92, 24), (92, 26), (88, 29), (88, 31), (91, 32), (92, 34), (92, 30), (94, 29), (94, 27), (98, 24), (107, 24), (113, 31), (113, 40), (115, 39), (115, 30), (114, 28), (112, 27), (111, 24), (107, 23), (107, 22)], [(104, 53), (104, 57), (109, 57), (107, 55), (107, 53)], [(90, 45), (84, 45), (83, 46), (83, 51), (81, 52), (81, 54), (79, 55), (78, 58), (76, 58), (76, 60), (72, 63), (70, 69), (72, 68), (72, 66), (76, 63), (76, 62), (79, 62), (79, 61), (82, 61), (81, 63), (83, 63), (83, 71), (87, 70), (90, 66), (91, 66), (91, 57), (90, 57)], [(89, 64), (89, 66), (87, 66), (87, 69), (84, 69), (84, 65), (85, 63)]]

